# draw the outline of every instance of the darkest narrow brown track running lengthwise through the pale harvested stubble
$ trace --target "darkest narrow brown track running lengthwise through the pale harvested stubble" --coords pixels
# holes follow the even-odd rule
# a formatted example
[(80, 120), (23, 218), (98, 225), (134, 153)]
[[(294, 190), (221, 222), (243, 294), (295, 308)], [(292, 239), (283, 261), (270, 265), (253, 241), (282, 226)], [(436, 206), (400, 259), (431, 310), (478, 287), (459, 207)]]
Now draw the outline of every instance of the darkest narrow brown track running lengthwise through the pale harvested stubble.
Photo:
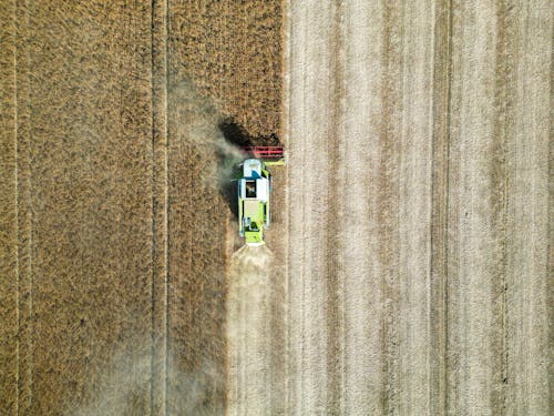
[(434, 397), (431, 414), (445, 413), (448, 406), (448, 235), (449, 235), (449, 161), (450, 161), (450, 78), (452, 50), (451, 1), (440, 1), (434, 9), (433, 29), (433, 139), (430, 224), (430, 296), (435, 302), (429, 310), (431, 338), (430, 392)]

